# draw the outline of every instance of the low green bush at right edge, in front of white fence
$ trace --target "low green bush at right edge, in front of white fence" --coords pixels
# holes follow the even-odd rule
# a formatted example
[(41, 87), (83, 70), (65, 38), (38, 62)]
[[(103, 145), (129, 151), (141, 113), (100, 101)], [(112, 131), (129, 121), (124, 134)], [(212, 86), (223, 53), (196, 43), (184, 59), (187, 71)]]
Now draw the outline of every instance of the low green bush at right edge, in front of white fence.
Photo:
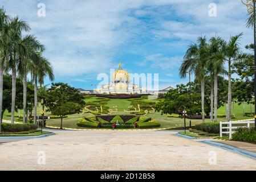
[(232, 139), (235, 141), (256, 143), (256, 130), (254, 128), (239, 128), (232, 135)]

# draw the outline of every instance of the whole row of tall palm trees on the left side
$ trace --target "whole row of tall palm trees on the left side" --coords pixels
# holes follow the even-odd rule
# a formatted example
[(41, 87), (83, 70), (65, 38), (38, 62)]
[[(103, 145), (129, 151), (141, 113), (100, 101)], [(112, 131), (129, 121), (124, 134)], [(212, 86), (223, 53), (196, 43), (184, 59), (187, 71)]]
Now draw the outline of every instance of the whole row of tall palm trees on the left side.
[[(42, 85), (48, 76), (54, 80), (50, 62), (43, 56), (45, 47), (34, 35), (29, 35), (30, 26), (18, 16), (12, 18), (0, 7), (0, 123), (3, 116), (3, 75), (11, 72), (11, 123), (14, 123), (14, 113), (17, 94), (17, 76), (23, 83), (23, 122), (27, 113), (27, 75), (30, 73), (34, 82), (34, 122), (36, 121), (36, 106), (38, 84)], [(0, 125), (1, 130), (1, 125)]]

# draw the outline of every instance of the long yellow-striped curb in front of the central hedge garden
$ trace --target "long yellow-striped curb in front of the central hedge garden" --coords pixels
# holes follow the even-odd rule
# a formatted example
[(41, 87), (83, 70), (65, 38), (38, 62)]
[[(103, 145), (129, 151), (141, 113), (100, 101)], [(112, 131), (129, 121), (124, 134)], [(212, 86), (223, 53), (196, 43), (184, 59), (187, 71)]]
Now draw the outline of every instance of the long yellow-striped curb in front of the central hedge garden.
[[(56, 127), (56, 126), (46, 125), (46, 127), (49, 127), (51, 129), (60, 129), (60, 127)], [(68, 127), (63, 127), (62, 129), (74, 130), (74, 131), (113, 131), (112, 129), (72, 129)], [(172, 129), (172, 127), (163, 128), (163, 129), (115, 129), (115, 131), (160, 131), (160, 130), (168, 130), (168, 129)]]

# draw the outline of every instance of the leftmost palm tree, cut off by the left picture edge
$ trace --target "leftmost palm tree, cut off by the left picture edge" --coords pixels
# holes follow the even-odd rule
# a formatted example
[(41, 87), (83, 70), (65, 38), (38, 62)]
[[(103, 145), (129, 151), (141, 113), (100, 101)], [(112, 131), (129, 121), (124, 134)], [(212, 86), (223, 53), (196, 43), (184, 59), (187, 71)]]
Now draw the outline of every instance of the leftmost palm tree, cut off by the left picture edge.
[(2, 132), (2, 107), (3, 107), (3, 71), (5, 68), (6, 60), (8, 59), (8, 54), (6, 51), (6, 43), (8, 36), (6, 36), (7, 32), (7, 24), (9, 23), (10, 17), (6, 15), (3, 7), (0, 7), (0, 132)]

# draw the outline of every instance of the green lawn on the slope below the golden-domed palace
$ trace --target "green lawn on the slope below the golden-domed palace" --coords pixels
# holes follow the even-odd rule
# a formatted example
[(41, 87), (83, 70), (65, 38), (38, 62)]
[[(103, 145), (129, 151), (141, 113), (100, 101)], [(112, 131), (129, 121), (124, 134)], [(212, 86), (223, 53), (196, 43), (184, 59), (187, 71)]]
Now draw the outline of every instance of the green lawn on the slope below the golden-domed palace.
[[(86, 102), (91, 102), (91, 101), (95, 101), (97, 99), (97, 97), (92, 96), (89, 98), (86, 98), (85, 101)], [(147, 99), (143, 99), (143, 101), (149, 101), (149, 102), (157, 102), (157, 100), (147, 100)], [(119, 110), (117, 113), (112, 113), (113, 115), (116, 114), (129, 114), (129, 113), (125, 113), (125, 110), (128, 110), (129, 106), (131, 105), (131, 102), (128, 101), (127, 99), (110, 99), (107, 103), (107, 106), (109, 107), (109, 109), (115, 110), (116, 108)], [(239, 120), (239, 119), (250, 119), (251, 117), (243, 117), (243, 110), (242, 110), (242, 105), (238, 105), (235, 104), (234, 106), (234, 111), (233, 111), (233, 106), (232, 106), (232, 113), (235, 113), (235, 119), (233, 120)], [(38, 108), (38, 113), (40, 112), (40, 110), (42, 110), (42, 107), (40, 106)], [(254, 110), (254, 106), (253, 106), (253, 110)], [(245, 105), (245, 112), (246, 113), (250, 113), (250, 105)], [(7, 112), (4, 113), (3, 115), (3, 119), (7, 119), (10, 120), (10, 117), (7, 117), (6, 114), (8, 114)], [(10, 113), (9, 113), (10, 114)], [(18, 113), (16, 113), (18, 114)], [(22, 115), (22, 110), (20, 112), (20, 114)], [(46, 112), (47, 114), (51, 114), (49, 112)], [(222, 106), (218, 109), (218, 114), (226, 114), (226, 106)], [(92, 115), (92, 114), (72, 114), (72, 115), (68, 115), (68, 118), (64, 118), (63, 119), (63, 127), (70, 127), (70, 128), (81, 128), (76, 126), (76, 123), (78, 123), (78, 119), (87, 115)], [(159, 123), (161, 124), (161, 128), (164, 127), (182, 127), (184, 126), (184, 120), (182, 118), (170, 118), (168, 117), (168, 115), (164, 114), (161, 115), (161, 113), (156, 112), (155, 114), (148, 114), (148, 117), (152, 117), (157, 119), (157, 121), (159, 121)], [(15, 120), (17, 120), (17, 118), (15, 118)], [(206, 119), (206, 122), (210, 121), (209, 119)], [(226, 118), (218, 118), (218, 121), (226, 121)], [(50, 126), (60, 126), (60, 119), (47, 119), (47, 125)], [(201, 123), (200, 119), (192, 119), (192, 125), (196, 125), (198, 123)], [(189, 126), (189, 119), (186, 119), (186, 126)]]

